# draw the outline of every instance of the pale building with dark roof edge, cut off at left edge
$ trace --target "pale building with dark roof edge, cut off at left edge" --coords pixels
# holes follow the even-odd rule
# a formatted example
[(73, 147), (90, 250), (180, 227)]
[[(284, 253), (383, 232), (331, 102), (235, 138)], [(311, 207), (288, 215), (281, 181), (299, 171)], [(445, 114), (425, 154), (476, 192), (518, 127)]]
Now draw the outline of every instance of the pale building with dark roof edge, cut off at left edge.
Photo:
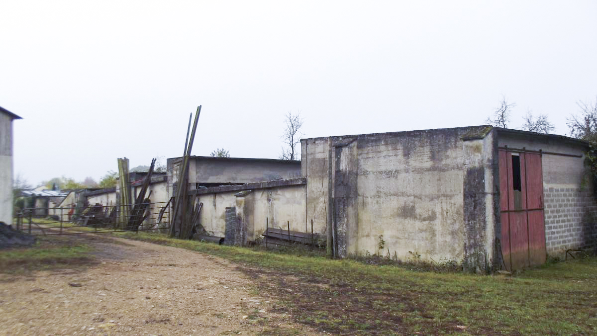
[(13, 223), (13, 120), (20, 116), (0, 107), (0, 221)]

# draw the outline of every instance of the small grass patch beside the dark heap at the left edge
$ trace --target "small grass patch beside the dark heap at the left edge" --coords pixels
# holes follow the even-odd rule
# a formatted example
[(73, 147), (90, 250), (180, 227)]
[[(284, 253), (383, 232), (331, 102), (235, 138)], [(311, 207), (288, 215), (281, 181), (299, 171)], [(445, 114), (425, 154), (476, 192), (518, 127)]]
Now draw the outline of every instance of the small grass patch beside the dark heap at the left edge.
[(32, 246), (0, 249), (1, 273), (26, 273), (33, 270), (88, 264), (91, 249), (64, 236), (38, 236)]

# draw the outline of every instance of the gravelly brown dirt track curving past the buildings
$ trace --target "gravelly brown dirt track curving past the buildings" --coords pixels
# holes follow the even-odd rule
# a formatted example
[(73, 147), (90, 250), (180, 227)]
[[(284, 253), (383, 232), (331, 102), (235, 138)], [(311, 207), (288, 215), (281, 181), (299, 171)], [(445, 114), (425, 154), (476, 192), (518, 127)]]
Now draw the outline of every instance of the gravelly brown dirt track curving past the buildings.
[(169, 246), (76, 235), (92, 266), (0, 274), (0, 335), (314, 334), (220, 258)]

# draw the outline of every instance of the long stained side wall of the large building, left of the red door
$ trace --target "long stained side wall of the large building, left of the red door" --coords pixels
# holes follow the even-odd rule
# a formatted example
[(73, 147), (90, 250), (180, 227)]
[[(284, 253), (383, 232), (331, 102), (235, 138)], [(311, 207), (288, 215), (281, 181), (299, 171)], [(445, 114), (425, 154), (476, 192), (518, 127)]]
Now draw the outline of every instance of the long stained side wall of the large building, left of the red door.
[[(305, 139), (307, 218), (325, 220), (322, 205), (329, 204), (326, 182), (331, 181), (337, 255), (376, 254), (383, 245), (384, 254), (389, 249), (402, 260), (420, 255), (427, 261), (461, 262), (482, 255), (491, 262), (493, 138), (463, 141), (470, 132), (483, 131), (452, 128)], [(322, 173), (329, 167), (334, 169)]]

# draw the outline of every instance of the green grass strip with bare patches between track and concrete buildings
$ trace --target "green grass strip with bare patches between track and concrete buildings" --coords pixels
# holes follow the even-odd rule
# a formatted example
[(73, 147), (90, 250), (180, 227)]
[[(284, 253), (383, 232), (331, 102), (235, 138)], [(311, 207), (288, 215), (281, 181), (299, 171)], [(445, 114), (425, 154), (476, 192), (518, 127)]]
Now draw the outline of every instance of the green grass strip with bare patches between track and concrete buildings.
[(179, 246), (239, 264), (260, 292), (297, 322), (341, 334), (596, 334), (597, 258), (547, 264), (516, 276), (417, 272), (352, 260), (183, 241), (150, 233), (124, 238)]

